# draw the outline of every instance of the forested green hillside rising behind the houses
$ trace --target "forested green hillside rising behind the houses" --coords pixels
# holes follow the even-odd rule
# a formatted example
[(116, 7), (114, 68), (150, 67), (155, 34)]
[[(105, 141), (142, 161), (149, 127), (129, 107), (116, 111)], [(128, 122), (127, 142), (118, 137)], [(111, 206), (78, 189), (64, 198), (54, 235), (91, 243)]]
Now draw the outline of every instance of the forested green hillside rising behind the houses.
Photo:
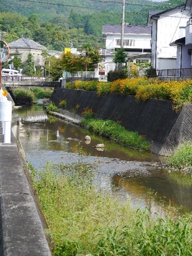
[[(184, 0), (125, 1), (125, 22), (146, 25), (149, 10), (166, 10)], [(103, 24), (121, 24), (122, 0), (7, 0), (0, 2), (1, 37), (11, 42), (29, 37), (49, 49), (91, 43), (103, 47)]]

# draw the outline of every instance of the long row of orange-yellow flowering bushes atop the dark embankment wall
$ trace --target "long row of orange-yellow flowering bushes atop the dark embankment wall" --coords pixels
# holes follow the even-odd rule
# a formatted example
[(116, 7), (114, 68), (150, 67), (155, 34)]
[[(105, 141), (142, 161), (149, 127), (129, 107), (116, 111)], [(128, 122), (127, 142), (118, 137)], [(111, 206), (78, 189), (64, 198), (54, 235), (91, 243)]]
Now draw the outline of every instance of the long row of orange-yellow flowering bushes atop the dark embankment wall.
[(137, 100), (170, 100), (176, 110), (179, 110), (185, 103), (192, 103), (192, 80), (190, 79), (164, 82), (156, 78), (144, 77), (118, 79), (113, 82), (75, 81), (74, 88), (97, 91), (98, 96), (106, 93), (119, 93), (134, 95)]

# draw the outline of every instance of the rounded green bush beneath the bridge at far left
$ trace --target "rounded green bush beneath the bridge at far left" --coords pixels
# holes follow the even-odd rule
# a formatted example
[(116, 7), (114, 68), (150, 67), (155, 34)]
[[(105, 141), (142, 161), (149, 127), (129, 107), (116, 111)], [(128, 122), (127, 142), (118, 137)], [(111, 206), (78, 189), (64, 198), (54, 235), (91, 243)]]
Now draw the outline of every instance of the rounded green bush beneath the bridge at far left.
[(35, 102), (35, 96), (32, 91), (26, 89), (16, 89), (13, 91), (13, 93), (18, 102), (29, 103), (30, 105)]

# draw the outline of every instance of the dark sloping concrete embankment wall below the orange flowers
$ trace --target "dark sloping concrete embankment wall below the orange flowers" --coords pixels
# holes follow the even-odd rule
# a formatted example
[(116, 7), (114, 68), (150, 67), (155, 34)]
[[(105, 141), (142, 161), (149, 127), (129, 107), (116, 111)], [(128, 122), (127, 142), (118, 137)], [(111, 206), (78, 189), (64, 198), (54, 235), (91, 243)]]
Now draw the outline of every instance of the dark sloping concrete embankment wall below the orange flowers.
[(97, 118), (118, 121), (126, 129), (146, 136), (151, 152), (169, 155), (184, 141), (192, 139), (192, 105), (184, 105), (181, 111), (173, 110), (172, 102), (151, 99), (137, 102), (134, 96), (106, 94), (98, 97), (94, 91), (55, 88), (52, 102), (59, 105), (67, 101), (67, 109), (81, 114), (92, 108)]

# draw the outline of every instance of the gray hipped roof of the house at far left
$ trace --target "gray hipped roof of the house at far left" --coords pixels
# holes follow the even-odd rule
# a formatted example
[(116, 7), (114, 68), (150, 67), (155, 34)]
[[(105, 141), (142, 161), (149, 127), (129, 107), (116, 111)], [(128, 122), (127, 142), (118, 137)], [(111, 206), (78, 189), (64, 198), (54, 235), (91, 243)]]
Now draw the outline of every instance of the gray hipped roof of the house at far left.
[(47, 50), (43, 45), (36, 43), (35, 41), (29, 38), (20, 38), (12, 43), (9, 43), (8, 46), (11, 48), (22, 48), (22, 49), (35, 49), (35, 50)]

